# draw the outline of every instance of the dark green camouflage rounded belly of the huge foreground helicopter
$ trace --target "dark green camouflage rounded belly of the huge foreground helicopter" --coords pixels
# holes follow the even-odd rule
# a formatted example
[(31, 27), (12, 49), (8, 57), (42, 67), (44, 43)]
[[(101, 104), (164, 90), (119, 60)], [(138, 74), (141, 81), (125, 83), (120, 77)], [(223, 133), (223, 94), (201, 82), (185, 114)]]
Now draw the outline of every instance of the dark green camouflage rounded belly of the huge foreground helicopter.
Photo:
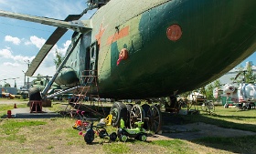
[[(119, 30), (129, 26), (129, 35), (108, 47), (111, 57), (105, 63), (110, 68), (103, 72), (104, 66), (98, 67), (101, 96), (167, 96), (220, 77), (256, 48), (252, 5), (256, 2), (171, 1), (133, 17), (119, 26)], [(181, 31), (178, 39), (172, 40), (168, 28), (174, 25)], [(117, 65), (123, 48), (129, 57)]]

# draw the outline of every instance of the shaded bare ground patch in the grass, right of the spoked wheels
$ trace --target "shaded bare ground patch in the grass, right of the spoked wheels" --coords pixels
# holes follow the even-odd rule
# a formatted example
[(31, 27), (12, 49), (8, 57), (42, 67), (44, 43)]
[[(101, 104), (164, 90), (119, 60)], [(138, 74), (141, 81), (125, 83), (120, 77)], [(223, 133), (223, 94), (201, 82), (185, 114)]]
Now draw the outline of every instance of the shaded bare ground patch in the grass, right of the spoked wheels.
[(233, 128), (220, 128), (215, 125), (197, 122), (187, 125), (163, 126), (162, 134), (155, 134), (152, 137), (148, 137), (147, 140), (192, 140), (205, 137), (241, 137), (248, 135), (256, 135), (256, 133)]

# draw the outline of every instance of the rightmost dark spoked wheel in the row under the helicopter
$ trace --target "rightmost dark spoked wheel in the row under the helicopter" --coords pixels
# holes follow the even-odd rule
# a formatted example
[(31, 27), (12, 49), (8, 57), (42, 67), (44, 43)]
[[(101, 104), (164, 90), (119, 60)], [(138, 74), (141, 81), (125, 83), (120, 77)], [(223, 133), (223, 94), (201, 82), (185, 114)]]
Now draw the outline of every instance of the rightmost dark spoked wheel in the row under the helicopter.
[(159, 108), (151, 106), (147, 111), (148, 128), (155, 133), (161, 130), (162, 126), (162, 114)]

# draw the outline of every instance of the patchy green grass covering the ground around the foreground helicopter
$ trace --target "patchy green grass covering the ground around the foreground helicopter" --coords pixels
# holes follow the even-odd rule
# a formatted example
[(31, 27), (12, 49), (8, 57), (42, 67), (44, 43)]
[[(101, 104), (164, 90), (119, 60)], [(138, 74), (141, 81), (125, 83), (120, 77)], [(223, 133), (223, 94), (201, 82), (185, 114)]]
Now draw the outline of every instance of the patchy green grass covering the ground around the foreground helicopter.
[[(27, 104), (18, 108), (28, 108)], [(1, 111), (12, 109), (13, 105), (0, 105)], [(53, 111), (63, 108), (61, 104), (52, 104)], [(223, 128), (238, 128), (256, 132), (256, 110), (238, 111), (236, 108), (216, 107), (214, 115), (201, 112), (199, 115), (169, 115), (180, 123), (204, 122)], [(256, 136), (240, 138), (203, 138), (187, 141), (185, 139), (127, 142), (96, 138), (93, 144), (85, 143), (79, 131), (72, 128), (76, 119), (0, 119), (0, 144), (2, 153), (253, 153), (256, 151)], [(97, 122), (95, 122), (97, 124)], [(110, 134), (116, 128), (107, 127)], [(197, 129), (193, 131), (199, 131)], [(11, 145), (11, 146), (10, 146)], [(39, 145), (39, 146), (37, 146)], [(37, 146), (37, 147), (36, 147)]]

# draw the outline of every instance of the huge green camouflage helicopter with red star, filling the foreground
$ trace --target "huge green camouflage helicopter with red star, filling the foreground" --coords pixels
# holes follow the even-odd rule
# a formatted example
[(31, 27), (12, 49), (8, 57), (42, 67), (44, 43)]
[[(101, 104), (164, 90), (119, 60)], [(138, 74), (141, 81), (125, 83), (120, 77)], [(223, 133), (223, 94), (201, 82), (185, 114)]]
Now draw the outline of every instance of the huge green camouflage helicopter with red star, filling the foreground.
[[(0, 10), (0, 16), (57, 26), (26, 72), (31, 77), (68, 29), (66, 56), (41, 95), (55, 82), (62, 93), (97, 77), (101, 98), (160, 98), (202, 87), (256, 49), (256, 1), (89, 0), (64, 20)], [(97, 9), (88, 20), (80, 17)], [(221, 59), (219, 57), (222, 57)], [(99, 90), (98, 90), (99, 89)]]

